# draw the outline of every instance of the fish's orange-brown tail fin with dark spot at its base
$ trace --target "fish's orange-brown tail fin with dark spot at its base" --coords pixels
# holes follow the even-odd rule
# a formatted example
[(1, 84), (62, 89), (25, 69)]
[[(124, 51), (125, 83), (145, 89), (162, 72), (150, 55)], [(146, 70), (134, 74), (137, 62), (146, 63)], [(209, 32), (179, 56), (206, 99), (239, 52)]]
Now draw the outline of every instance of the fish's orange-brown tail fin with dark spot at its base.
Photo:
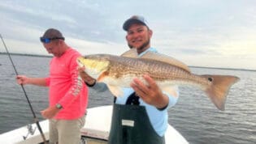
[(240, 80), (231, 75), (202, 75), (211, 82), (210, 87), (206, 88), (206, 94), (219, 110), (225, 109), (225, 102), (230, 87)]

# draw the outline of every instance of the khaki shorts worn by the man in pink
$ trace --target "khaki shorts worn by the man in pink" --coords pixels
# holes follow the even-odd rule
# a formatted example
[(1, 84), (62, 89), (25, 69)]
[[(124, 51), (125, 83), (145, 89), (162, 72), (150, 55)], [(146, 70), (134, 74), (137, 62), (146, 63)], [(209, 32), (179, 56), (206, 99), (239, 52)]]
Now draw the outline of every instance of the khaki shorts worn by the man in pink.
[(85, 125), (85, 116), (76, 120), (49, 120), (50, 144), (80, 144), (80, 129)]

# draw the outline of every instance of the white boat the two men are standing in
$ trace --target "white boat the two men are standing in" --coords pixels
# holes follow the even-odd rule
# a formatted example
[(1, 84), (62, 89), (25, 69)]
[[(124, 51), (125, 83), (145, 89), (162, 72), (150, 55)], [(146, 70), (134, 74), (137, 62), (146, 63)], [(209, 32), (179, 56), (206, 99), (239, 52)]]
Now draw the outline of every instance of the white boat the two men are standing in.
[[(112, 105), (88, 108), (85, 126), (81, 129), (81, 144), (106, 144), (111, 129)], [(41, 129), (49, 139), (48, 120), (40, 121)], [(166, 144), (188, 144), (189, 142), (171, 125), (165, 134)], [(1, 144), (43, 144), (36, 124), (0, 134)]]

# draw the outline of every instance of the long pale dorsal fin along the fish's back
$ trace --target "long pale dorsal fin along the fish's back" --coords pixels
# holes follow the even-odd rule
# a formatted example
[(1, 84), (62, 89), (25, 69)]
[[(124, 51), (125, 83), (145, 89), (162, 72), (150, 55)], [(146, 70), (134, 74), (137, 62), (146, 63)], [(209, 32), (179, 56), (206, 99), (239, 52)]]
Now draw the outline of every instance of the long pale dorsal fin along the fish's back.
[(177, 60), (174, 57), (169, 57), (163, 53), (155, 53), (155, 52), (147, 52), (144, 55), (141, 56), (141, 58), (147, 58), (147, 59), (153, 59), (156, 61), (162, 61), (166, 62), (168, 64), (171, 64), (173, 66), (178, 66), (183, 70), (186, 70), (190, 73), (189, 66), (185, 65), (183, 62)]

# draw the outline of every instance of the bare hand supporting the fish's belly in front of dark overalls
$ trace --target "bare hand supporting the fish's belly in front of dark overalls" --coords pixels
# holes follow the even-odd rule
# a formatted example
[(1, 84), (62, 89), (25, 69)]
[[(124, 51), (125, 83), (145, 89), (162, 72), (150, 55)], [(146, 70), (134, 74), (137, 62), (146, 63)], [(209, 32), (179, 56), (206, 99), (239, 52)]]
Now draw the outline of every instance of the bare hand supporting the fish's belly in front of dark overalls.
[(153, 78), (149, 75), (143, 75), (145, 81), (148, 83), (145, 85), (138, 78), (134, 78), (130, 84), (136, 94), (145, 101), (145, 103), (154, 105), (156, 108), (164, 108), (169, 103), (167, 95), (164, 95)]

